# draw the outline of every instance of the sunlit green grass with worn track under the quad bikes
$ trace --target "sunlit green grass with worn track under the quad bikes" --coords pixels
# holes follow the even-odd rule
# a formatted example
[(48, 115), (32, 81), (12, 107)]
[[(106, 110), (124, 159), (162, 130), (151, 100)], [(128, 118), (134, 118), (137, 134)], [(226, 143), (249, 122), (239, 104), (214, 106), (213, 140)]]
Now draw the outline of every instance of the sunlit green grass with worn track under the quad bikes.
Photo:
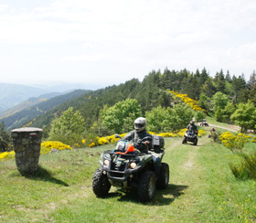
[(229, 169), (239, 157), (207, 136), (197, 146), (181, 141), (165, 138), (169, 186), (147, 204), (135, 191), (93, 194), (100, 154), (112, 145), (41, 155), (36, 177), (0, 162), (0, 222), (256, 222), (256, 182)]

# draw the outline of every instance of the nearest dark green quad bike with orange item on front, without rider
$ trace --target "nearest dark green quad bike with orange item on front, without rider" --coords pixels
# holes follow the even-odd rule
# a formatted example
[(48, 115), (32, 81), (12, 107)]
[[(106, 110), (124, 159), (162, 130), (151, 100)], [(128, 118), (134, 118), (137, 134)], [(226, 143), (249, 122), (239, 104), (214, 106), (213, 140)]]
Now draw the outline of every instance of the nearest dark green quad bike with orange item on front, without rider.
[[(121, 138), (118, 134), (116, 138)], [(101, 154), (101, 167), (92, 178), (92, 189), (96, 196), (107, 196), (111, 186), (123, 189), (137, 189), (141, 202), (148, 202), (155, 196), (155, 187), (165, 189), (169, 183), (169, 165), (162, 163), (165, 154), (164, 138), (152, 135), (140, 143), (152, 141), (152, 149), (141, 153), (133, 143), (119, 140), (115, 149)]]

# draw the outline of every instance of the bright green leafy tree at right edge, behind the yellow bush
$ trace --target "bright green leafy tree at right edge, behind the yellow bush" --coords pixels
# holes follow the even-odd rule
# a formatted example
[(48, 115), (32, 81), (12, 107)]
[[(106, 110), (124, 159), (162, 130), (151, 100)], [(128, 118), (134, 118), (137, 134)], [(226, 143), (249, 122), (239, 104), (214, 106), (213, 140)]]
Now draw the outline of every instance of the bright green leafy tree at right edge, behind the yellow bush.
[(246, 133), (248, 129), (255, 129), (256, 109), (251, 101), (238, 104), (238, 109), (230, 117), (241, 128), (241, 133)]

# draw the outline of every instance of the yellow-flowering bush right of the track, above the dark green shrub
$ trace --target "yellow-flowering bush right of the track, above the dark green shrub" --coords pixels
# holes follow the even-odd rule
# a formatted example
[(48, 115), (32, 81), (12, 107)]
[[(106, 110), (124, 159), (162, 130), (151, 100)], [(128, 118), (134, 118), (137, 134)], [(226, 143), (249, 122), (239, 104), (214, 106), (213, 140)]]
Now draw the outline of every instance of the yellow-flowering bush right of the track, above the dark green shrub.
[(237, 135), (229, 132), (225, 132), (219, 135), (219, 141), (229, 148), (233, 153), (241, 152), (245, 143), (249, 142), (251, 136), (244, 133)]

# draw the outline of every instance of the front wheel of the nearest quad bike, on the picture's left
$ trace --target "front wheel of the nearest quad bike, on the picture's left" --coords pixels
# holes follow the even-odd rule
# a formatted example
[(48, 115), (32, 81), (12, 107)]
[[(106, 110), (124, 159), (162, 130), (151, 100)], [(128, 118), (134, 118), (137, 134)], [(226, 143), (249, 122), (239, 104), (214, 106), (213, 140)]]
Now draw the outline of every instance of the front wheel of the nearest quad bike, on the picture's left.
[(111, 183), (108, 180), (108, 176), (103, 174), (101, 168), (98, 168), (92, 178), (92, 190), (96, 196), (103, 197), (107, 196), (110, 189)]

